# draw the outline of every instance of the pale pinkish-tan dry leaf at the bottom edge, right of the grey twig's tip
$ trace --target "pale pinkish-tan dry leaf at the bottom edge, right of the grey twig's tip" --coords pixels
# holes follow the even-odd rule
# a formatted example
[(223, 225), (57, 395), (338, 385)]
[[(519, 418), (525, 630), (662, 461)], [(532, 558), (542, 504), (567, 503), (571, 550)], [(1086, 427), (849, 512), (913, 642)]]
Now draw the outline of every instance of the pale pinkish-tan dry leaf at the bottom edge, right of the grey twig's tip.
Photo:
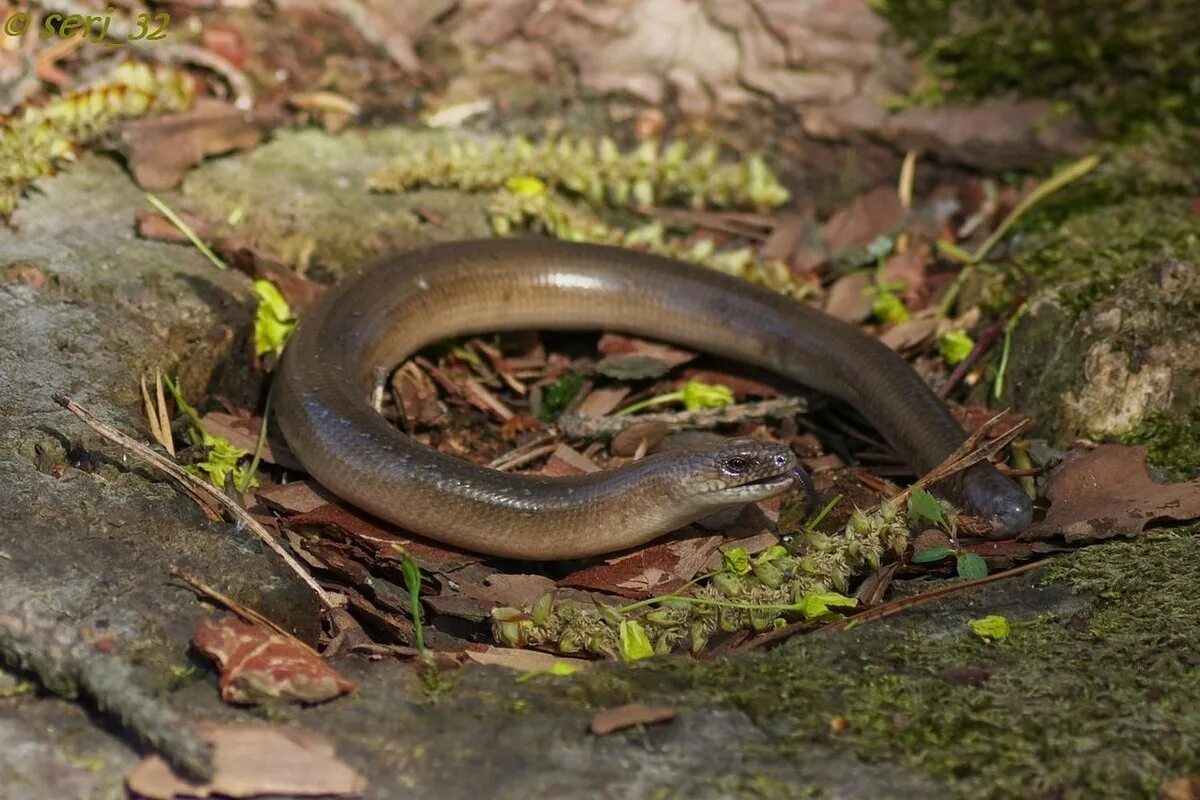
[(342, 762), (332, 742), (299, 728), (259, 722), (197, 724), (212, 742), (216, 766), (208, 783), (187, 783), (175, 777), (158, 756), (148, 756), (126, 778), (130, 792), (152, 800), (173, 798), (356, 798), (367, 782)]

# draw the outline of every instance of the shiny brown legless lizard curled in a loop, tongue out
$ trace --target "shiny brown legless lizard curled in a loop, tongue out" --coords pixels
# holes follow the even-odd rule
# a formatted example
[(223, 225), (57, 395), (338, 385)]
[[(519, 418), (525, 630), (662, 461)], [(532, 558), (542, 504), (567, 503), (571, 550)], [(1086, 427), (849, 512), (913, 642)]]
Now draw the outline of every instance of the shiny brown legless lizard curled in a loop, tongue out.
[[(367, 404), (377, 366), (450, 336), (536, 327), (619, 330), (773, 369), (853, 404), (918, 473), (965, 438), (908, 365), (857, 327), (709, 269), (534, 239), (434, 245), (332, 288), (284, 353), (280, 427), (335, 494), (431, 539), (511, 558), (634, 547), (793, 485), (791, 451), (751, 439), (577, 477), (508, 475), (418, 444)], [(1028, 498), (991, 464), (947, 491), (998, 534), (1030, 522)]]

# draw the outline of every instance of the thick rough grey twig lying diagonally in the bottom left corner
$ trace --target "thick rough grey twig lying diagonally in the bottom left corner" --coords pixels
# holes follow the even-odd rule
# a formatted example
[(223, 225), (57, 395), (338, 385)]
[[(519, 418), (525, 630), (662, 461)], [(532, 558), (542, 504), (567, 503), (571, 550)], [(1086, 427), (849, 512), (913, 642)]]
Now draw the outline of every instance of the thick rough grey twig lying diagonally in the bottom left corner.
[(100, 650), (79, 628), (46, 619), (31, 601), (0, 609), (0, 658), (35, 675), (67, 699), (80, 694), (116, 718), (173, 768), (191, 778), (212, 777), (212, 747), (179, 714), (142, 686), (121, 658)]

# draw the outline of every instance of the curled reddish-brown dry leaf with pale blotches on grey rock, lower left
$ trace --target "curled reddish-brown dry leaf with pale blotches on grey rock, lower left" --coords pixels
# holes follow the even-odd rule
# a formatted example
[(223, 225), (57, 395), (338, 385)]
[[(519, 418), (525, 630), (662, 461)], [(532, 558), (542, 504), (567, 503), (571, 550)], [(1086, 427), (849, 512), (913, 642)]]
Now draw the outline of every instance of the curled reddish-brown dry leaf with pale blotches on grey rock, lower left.
[(192, 643), (221, 666), (218, 685), (227, 703), (324, 703), (354, 688), (299, 639), (236, 616), (200, 622)]

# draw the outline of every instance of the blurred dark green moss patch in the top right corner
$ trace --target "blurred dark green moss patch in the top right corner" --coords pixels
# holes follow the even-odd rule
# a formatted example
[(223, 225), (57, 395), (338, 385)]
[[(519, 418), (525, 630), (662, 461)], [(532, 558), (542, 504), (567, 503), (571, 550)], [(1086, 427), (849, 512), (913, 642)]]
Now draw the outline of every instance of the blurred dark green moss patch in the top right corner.
[(1104, 133), (1200, 121), (1200, 14), (1192, 0), (872, 0), (910, 43), (938, 103), (1006, 92), (1062, 101)]

